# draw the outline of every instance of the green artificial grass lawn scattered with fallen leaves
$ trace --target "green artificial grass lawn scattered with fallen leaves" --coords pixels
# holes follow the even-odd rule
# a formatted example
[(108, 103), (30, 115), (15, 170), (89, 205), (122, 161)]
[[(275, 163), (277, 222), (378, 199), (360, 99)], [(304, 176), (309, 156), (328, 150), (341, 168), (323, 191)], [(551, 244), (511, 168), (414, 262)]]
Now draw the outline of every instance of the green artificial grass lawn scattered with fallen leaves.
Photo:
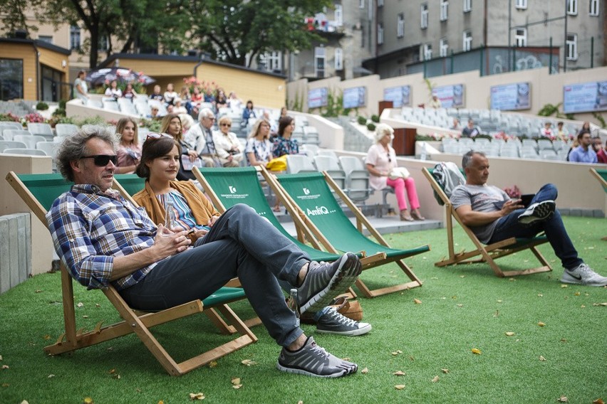
[[(583, 259), (607, 275), (607, 242), (600, 239), (606, 221), (564, 221)], [(460, 248), (471, 246), (459, 229), (455, 234)], [(256, 344), (220, 359), (217, 366), (179, 378), (168, 376), (133, 335), (47, 356), (42, 348), (63, 332), (63, 313), (60, 277), (44, 274), (0, 295), (0, 366), (8, 366), (0, 370), (0, 403), (82, 403), (92, 398), (97, 404), (169, 404), (190, 402), (189, 393), (199, 392), (205, 403), (554, 403), (561, 396), (569, 403), (607, 400), (607, 307), (595, 305), (607, 302), (607, 288), (561, 287), (562, 268), (549, 245), (540, 250), (554, 265), (553, 272), (500, 279), (482, 264), (435, 267), (433, 262), (446, 253), (445, 230), (386, 238), (394, 247), (432, 246), (432, 251), (406, 260), (423, 287), (361, 298), (364, 319), (373, 324), (365, 336), (315, 334), (313, 326), (304, 325), (318, 344), (358, 363), (354, 376), (326, 380), (276, 370), (279, 347), (262, 326), (253, 329), (259, 337)], [(498, 263), (512, 269), (536, 264), (527, 252)], [(405, 280), (396, 265), (362, 276), (369, 286)], [(93, 329), (102, 319), (104, 324), (118, 321), (102, 293), (78, 285), (74, 291), (76, 302), (83, 303), (76, 309), (78, 328)], [(242, 318), (251, 317), (247, 302), (231, 307)], [(227, 341), (202, 314), (152, 331), (178, 361)], [(515, 335), (506, 336), (507, 331)], [(475, 355), (474, 348), (482, 353)], [(256, 364), (244, 366), (244, 359)], [(395, 376), (396, 371), (406, 375)], [(232, 388), (234, 377), (241, 378), (238, 390)]]

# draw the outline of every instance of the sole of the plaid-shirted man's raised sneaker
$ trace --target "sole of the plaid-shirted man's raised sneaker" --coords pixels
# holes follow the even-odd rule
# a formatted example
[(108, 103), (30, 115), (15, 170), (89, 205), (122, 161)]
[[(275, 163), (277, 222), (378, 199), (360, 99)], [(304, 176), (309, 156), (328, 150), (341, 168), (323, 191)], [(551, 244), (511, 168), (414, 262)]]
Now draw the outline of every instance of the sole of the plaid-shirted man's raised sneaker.
[(321, 309), (328, 306), (328, 304), (333, 301), (333, 297), (346, 292), (346, 290), (353, 285), (354, 281), (356, 281), (356, 277), (360, 275), (361, 271), (362, 265), (356, 255), (351, 252), (343, 255), (343, 257), (341, 257), (341, 262), (328, 285), (308, 299), (307, 302), (301, 304), (299, 312), (305, 313), (308, 310), (313, 313), (320, 312)]

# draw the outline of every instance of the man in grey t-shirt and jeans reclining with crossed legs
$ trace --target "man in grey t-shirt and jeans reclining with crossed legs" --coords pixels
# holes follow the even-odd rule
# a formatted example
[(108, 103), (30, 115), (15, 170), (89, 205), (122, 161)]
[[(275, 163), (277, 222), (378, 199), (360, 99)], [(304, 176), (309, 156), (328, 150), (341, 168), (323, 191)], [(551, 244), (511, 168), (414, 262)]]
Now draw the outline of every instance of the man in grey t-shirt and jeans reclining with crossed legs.
[(482, 243), (497, 243), (511, 237), (533, 238), (543, 231), (565, 268), (561, 282), (607, 285), (607, 277), (598, 275), (578, 257), (556, 210), (554, 200), (558, 193), (553, 184), (542, 186), (525, 209), (520, 199), (512, 200), (501, 189), (487, 185), (489, 160), (484, 153), (468, 151), (462, 159), (462, 168), (466, 184), (455, 187), (451, 203)]

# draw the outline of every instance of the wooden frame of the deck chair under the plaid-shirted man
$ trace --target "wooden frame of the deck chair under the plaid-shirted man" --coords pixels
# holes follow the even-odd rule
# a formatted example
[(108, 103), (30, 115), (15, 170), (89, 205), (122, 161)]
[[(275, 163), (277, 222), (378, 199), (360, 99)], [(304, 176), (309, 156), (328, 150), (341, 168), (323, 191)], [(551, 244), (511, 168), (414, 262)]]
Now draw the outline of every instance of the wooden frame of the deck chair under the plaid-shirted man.
[[(36, 175), (36, 174), (28, 174)], [(48, 176), (48, 174), (41, 174)], [(56, 179), (61, 179), (61, 174), (54, 174)], [(46, 225), (46, 208), (33, 196), (33, 193), (27, 188), (23, 181), (19, 178), (14, 171), (9, 172), (6, 176), (6, 181), (11, 184), (16, 193), (19, 194), (21, 199), (31, 209), (32, 213)], [(239, 335), (236, 339), (232, 339), (225, 344), (215, 347), (209, 351), (201, 353), (190, 359), (177, 363), (170, 354), (162, 347), (159, 341), (152, 335), (150, 327), (158, 324), (166, 323), (175, 319), (189, 316), (190, 314), (204, 312), (207, 310), (200, 300), (194, 300), (185, 304), (181, 304), (177, 307), (165, 309), (160, 312), (147, 313), (139, 315), (138, 312), (128, 307), (128, 304), (124, 301), (118, 291), (113, 287), (109, 286), (103, 289), (105, 297), (107, 297), (113, 304), (115, 309), (123, 318), (123, 321), (112, 324), (109, 326), (101, 326), (101, 322), (95, 326), (93, 331), (81, 331), (76, 330), (76, 314), (74, 309), (74, 298), (73, 298), (73, 280), (69, 275), (66, 267), (61, 265), (61, 292), (63, 296), (63, 321), (65, 323), (65, 333), (61, 334), (55, 344), (46, 346), (44, 351), (51, 355), (57, 355), (60, 353), (66, 353), (81, 349), (86, 346), (99, 344), (103, 341), (118, 338), (127, 334), (135, 333), (145, 345), (145, 347), (152, 353), (153, 356), (160, 362), (160, 365), (165, 368), (167, 373), (172, 376), (180, 376), (184, 373), (190, 372), (199, 366), (215, 361), (222, 356), (226, 356), (228, 353), (241, 349), (244, 346), (254, 343), (257, 341), (257, 337), (247, 327), (244, 322), (239, 319), (232, 309), (227, 304), (218, 304), (216, 308), (221, 312), (226, 319), (229, 320), (229, 324), (232, 324), (238, 331)], [(238, 297), (237, 299), (241, 299)], [(237, 300), (236, 299), (236, 300)], [(222, 303), (229, 303), (222, 302)], [(211, 317), (212, 321), (213, 318)], [(228, 324), (217, 324), (220, 329), (224, 327), (227, 329)]]

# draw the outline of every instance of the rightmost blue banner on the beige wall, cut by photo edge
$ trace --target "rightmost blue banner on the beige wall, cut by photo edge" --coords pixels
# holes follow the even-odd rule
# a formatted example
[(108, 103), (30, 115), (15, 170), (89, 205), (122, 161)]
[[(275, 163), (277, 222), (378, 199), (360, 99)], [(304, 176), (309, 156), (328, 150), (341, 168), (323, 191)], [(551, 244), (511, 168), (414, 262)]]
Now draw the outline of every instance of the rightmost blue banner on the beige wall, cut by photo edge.
[(607, 110), (607, 81), (569, 84), (563, 87), (563, 112)]

